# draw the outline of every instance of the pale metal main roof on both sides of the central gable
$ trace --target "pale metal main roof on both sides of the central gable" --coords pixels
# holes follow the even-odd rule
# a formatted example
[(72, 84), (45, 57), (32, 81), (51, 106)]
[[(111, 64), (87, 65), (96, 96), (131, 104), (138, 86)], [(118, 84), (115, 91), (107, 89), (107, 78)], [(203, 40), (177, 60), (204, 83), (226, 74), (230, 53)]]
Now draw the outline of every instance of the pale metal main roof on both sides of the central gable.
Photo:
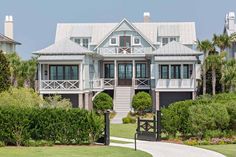
[[(59, 23), (57, 24), (55, 42), (70, 37), (90, 37), (91, 43), (97, 45), (119, 23)], [(166, 22), (166, 23), (132, 23), (153, 44), (158, 36), (179, 36), (185, 45), (194, 44), (196, 30), (194, 22)]]

